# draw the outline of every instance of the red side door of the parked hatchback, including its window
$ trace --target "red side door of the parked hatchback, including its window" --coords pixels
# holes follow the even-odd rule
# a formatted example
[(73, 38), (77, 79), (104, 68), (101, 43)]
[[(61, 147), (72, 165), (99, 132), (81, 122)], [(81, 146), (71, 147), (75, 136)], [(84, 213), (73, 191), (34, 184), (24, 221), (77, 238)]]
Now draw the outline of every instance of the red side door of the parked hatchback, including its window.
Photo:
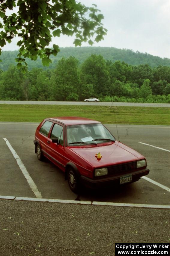
[[(58, 138), (58, 144), (53, 143), (52, 139)], [(59, 123), (54, 123), (49, 137), (46, 143), (47, 156), (48, 158), (56, 164), (62, 170), (65, 170), (66, 157), (65, 157), (65, 147), (64, 147), (64, 126)]]

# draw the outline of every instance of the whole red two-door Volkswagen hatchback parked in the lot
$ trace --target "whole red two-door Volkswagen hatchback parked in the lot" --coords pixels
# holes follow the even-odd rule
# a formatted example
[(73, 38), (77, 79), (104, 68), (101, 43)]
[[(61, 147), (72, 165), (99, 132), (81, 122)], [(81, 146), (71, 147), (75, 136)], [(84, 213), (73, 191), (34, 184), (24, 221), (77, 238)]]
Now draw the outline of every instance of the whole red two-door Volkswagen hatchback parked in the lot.
[(65, 173), (70, 189), (139, 180), (149, 169), (144, 156), (117, 141), (100, 122), (82, 117), (44, 119), (35, 132), (35, 153)]

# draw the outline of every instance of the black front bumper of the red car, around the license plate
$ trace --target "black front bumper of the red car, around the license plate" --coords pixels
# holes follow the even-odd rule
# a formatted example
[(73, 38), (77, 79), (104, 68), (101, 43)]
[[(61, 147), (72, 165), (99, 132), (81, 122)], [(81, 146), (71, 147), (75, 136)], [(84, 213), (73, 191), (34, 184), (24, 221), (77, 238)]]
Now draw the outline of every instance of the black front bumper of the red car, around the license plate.
[[(121, 176), (132, 174), (132, 181), (129, 182), (129, 183), (132, 183), (139, 180), (142, 176), (148, 175), (149, 171), (150, 170), (148, 168), (145, 168), (142, 170), (134, 171), (133, 173), (126, 173), (126, 174), (121, 173), (121, 175), (105, 176), (104, 178), (100, 178), (100, 179), (99, 178), (90, 179), (85, 176), (80, 176), (80, 179), (82, 184), (89, 188), (100, 188), (100, 187), (108, 187), (113, 185), (118, 186), (120, 185)], [(124, 183), (124, 184), (127, 184), (127, 183)]]

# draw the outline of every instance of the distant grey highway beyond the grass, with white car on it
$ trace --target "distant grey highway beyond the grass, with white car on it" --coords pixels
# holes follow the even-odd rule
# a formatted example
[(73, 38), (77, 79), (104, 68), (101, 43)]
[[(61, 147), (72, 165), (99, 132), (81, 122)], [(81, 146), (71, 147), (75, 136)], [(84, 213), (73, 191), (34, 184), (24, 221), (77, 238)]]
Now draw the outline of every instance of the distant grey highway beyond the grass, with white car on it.
[(129, 107), (160, 107), (170, 108), (166, 103), (133, 103), (133, 102), (85, 102), (85, 101), (0, 101), (0, 104), (26, 105), (86, 105), (86, 106), (129, 106)]

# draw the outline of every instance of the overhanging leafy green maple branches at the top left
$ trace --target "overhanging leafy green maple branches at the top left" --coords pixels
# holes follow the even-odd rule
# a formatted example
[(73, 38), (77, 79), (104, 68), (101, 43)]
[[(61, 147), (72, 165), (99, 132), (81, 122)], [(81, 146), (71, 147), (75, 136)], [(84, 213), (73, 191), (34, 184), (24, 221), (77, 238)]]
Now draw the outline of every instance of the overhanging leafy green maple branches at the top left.
[[(17, 11), (7, 15), (7, 11)], [(99, 42), (106, 35), (101, 20), (104, 18), (97, 9), (97, 5), (86, 7), (76, 0), (2, 0), (0, 5), (0, 47), (17, 35), (21, 39), (17, 42), (19, 54), (17, 66), (25, 65), (25, 58), (42, 59), (43, 65), (49, 65), (50, 55), (57, 55), (58, 45), (49, 48), (52, 36), (60, 34), (76, 35), (75, 46), (81, 46), (93, 39)], [(88, 17), (88, 18), (87, 18)], [(0, 50), (1, 50), (0, 48)]]

